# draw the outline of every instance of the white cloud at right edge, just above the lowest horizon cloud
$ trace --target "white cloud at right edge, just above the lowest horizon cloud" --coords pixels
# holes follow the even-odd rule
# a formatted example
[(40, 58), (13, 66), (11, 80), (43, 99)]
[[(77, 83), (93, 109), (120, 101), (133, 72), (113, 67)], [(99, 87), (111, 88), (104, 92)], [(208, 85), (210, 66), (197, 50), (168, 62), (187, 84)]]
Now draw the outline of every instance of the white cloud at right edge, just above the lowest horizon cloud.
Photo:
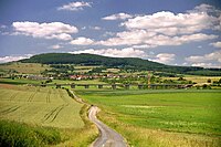
[(200, 62), (219, 62), (221, 63), (221, 51), (214, 51), (209, 54), (204, 55), (192, 55), (189, 57), (186, 57), (186, 61), (191, 62), (191, 63), (200, 63)]

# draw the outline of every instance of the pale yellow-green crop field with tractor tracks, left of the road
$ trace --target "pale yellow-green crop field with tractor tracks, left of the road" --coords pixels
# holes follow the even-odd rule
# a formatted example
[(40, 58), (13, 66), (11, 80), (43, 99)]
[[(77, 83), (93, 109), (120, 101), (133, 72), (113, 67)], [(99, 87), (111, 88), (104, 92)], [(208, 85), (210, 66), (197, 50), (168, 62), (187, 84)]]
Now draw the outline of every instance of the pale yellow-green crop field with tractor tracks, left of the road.
[(82, 128), (82, 104), (65, 90), (0, 85), (0, 119), (57, 128)]

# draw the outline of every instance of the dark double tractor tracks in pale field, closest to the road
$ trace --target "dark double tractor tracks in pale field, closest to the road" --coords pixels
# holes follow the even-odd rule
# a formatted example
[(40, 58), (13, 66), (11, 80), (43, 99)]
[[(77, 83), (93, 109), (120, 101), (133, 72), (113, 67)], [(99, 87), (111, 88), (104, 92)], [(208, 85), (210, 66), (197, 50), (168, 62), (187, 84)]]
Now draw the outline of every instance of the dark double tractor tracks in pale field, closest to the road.
[(51, 118), (50, 123), (54, 122), (54, 119), (56, 118), (56, 116), (59, 115), (59, 113), (65, 107), (67, 106), (66, 104), (63, 104), (61, 106), (55, 107), (54, 109), (52, 109), (51, 112), (49, 112), (48, 114), (44, 115), (44, 119), (43, 122), (46, 122)]

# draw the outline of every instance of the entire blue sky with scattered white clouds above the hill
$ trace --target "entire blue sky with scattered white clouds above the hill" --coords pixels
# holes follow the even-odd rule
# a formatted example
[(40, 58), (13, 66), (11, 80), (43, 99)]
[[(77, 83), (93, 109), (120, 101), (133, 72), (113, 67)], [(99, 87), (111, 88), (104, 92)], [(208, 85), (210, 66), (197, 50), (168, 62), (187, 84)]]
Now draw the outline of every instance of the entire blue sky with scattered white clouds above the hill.
[(221, 1), (0, 0), (0, 63), (51, 52), (221, 67)]

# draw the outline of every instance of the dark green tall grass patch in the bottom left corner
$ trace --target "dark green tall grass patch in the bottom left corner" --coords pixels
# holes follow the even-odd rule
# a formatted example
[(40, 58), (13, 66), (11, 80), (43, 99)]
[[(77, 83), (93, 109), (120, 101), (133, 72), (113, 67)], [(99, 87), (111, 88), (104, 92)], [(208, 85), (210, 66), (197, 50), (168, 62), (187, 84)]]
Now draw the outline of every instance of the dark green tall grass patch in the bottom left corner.
[(53, 128), (31, 127), (15, 122), (0, 120), (1, 147), (38, 147), (61, 143)]

